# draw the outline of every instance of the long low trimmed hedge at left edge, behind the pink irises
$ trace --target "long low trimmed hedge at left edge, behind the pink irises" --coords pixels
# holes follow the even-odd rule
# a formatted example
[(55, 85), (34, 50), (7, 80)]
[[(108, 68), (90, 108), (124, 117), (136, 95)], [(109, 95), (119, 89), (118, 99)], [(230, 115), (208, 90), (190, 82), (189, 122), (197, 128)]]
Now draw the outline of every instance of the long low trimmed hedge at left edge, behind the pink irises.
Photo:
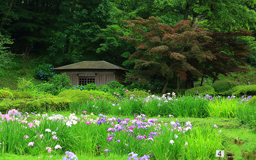
[(69, 100), (65, 98), (42, 98), (36, 99), (19, 99), (19, 100), (1, 100), (0, 112), (5, 113), (8, 109), (19, 109), (25, 113), (43, 113), (51, 111), (66, 111), (69, 109)]

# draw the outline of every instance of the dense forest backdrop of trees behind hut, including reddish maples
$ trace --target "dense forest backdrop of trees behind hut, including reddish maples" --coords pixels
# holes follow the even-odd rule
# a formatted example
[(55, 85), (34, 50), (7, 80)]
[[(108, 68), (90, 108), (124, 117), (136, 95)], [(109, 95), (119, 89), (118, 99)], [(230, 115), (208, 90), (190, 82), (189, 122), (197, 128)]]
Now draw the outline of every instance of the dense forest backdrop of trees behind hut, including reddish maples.
[(180, 80), (202, 86), (223, 76), (256, 84), (255, 4), (0, 0), (0, 88), (17, 88), (18, 77), (31, 79), (39, 65), (84, 60), (127, 68), (127, 84), (150, 83), (161, 92), (180, 89)]

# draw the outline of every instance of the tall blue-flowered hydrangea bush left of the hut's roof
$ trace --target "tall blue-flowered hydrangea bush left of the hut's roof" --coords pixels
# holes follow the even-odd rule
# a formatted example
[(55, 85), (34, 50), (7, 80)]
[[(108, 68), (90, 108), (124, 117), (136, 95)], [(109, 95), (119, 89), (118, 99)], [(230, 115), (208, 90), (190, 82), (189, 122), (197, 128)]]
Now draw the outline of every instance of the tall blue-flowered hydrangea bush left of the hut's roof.
[(51, 64), (40, 64), (35, 69), (35, 78), (41, 79), (44, 81), (49, 80), (53, 75), (55, 75), (54, 71), (52, 70)]

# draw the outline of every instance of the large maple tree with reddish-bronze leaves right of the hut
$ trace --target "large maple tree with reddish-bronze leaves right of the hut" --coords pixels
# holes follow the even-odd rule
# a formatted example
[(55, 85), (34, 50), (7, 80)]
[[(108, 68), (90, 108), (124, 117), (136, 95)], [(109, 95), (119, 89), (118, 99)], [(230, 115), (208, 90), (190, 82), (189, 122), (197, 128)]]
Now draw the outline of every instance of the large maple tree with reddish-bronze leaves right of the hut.
[(148, 82), (151, 77), (163, 77), (166, 80), (165, 93), (169, 80), (175, 75), (177, 88), (180, 80), (203, 74), (189, 63), (195, 59), (198, 63), (215, 58), (212, 52), (204, 49), (211, 42), (211, 33), (198, 25), (191, 25), (191, 20), (181, 20), (173, 27), (160, 23), (160, 19), (149, 17), (148, 20), (137, 18), (125, 20), (126, 27), (132, 28), (132, 35), (121, 37), (136, 46), (130, 60), (135, 60), (135, 69), (128, 80)]

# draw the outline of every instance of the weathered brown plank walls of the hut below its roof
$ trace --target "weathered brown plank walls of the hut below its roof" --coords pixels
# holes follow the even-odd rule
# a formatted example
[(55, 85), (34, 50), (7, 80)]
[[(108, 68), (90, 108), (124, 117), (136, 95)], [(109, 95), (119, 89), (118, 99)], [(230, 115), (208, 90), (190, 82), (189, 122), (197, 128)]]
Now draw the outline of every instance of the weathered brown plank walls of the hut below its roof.
[[(121, 82), (121, 80), (125, 78), (125, 76), (121, 74), (122, 71), (115, 69), (67, 69), (61, 70), (60, 73), (66, 73), (73, 85), (78, 85), (79, 77), (95, 76), (95, 84), (97, 86), (100, 86), (100, 84), (106, 85), (107, 82), (110, 81)], [(95, 73), (97, 73), (97, 75), (95, 75)], [(123, 74), (124, 73), (123, 71)]]

